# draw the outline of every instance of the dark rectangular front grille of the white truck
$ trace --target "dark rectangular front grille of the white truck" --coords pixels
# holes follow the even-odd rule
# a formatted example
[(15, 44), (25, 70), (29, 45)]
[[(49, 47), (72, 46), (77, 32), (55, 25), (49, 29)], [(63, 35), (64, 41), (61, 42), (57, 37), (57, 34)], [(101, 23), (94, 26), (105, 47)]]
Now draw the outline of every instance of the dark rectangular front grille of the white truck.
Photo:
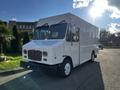
[(41, 61), (42, 52), (38, 50), (28, 50), (28, 59)]

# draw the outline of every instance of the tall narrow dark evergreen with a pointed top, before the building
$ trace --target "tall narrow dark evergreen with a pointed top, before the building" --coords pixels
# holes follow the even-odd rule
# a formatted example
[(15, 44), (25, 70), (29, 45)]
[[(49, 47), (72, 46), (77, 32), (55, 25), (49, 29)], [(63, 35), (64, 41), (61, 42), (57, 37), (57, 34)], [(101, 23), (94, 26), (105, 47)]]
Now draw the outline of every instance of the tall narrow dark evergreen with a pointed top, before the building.
[(20, 40), (16, 25), (13, 26), (12, 30), (13, 39), (11, 40), (11, 48), (14, 53), (19, 52)]

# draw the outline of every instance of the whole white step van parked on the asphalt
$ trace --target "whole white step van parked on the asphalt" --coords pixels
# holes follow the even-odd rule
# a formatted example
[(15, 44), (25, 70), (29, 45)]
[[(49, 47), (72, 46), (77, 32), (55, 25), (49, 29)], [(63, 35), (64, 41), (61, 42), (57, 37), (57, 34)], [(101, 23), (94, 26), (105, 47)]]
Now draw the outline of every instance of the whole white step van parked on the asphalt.
[(98, 52), (99, 30), (71, 13), (40, 19), (33, 40), (22, 48), (24, 68), (53, 68), (62, 76)]

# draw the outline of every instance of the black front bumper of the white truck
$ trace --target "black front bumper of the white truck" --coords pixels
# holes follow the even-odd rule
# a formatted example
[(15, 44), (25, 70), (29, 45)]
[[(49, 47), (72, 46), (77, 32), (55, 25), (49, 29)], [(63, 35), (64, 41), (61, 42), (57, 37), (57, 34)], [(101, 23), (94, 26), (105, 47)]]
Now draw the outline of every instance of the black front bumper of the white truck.
[(40, 69), (52, 69), (52, 70), (57, 70), (60, 64), (56, 65), (46, 65), (46, 64), (41, 64), (41, 63), (36, 63), (36, 62), (25, 62), (21, 61), (20, 66), (25, 68), (25, 69), (31, 69), (31, 70), (40, 70)]

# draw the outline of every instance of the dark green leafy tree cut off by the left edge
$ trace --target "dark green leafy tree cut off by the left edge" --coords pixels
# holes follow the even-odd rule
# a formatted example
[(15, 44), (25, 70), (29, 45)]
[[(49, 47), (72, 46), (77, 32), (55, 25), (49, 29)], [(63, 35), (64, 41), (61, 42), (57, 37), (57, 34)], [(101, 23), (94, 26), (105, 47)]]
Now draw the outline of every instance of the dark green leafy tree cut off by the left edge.
[(6, 42), (9, 31), (4, 23), (0, 20), (0, 54), (3, 53), (3, 45)]

